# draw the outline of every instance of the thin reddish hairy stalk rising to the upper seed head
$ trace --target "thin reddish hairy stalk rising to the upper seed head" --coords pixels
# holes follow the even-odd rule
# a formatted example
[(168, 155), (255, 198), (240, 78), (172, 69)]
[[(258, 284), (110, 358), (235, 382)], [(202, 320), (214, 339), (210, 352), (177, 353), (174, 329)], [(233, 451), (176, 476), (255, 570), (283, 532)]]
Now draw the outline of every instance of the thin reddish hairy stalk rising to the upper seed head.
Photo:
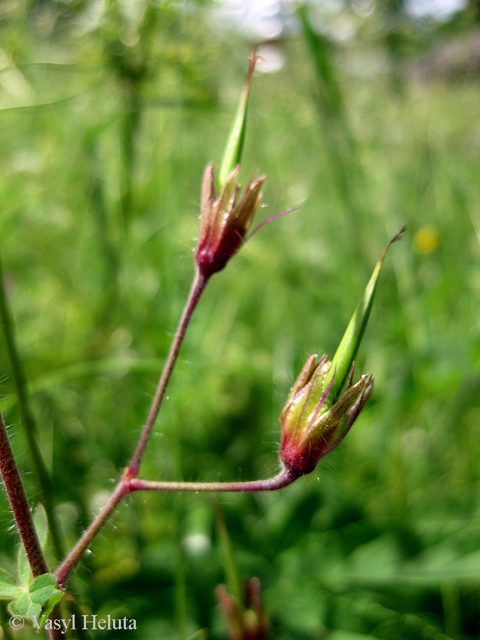
[(139, 444), (137, 446), (137, 450), (134, 453), (134, 457), (132, 458), (132, 462), (127, 469), (126, 477), (127, 478), (136, 478), (139, 472), (140, 464), (142, 463), (142, 457), (145, 451), (145, 447), (147, 442), (149, 441), (149, 437), (151, 435), (151, 431), (154, 428), (156, 416), (159, 413), (161, 401), (164, 399), (166, 386), (169, 384), (170, 376), (174, 370), (174, 366), (176, 363), (176, 359), (178, 358), (178, 352), (180, 351), (181, 344), (183, 342), (183, 338), (186, 334), (186, 329), (188, 327), (188, 323), (191, 319), (193, 311), (195, 310), (198, 300), (203, 293), (203, 289), (205, 289), (208, 279), (203, 275), (196, 271), (195, 278), (193, 279), (193, 284), (190, 290), (190, 294), (188, 294), (188, 300), (186, 302), (185, 309), (183, 309), (183, 314), (181, 316), (180, 324), (178, 324), (178, 329), (175, 334), (174, 341), (170, 348), (169, 357), (166, 360), (164, 370), (161, 374), (159, 385), (156, 388), (156, 393), (154, 400), (151, 402), (151, 407), (149, 411), (149, 415), (146, 418), (144, 430), (139, 439)]

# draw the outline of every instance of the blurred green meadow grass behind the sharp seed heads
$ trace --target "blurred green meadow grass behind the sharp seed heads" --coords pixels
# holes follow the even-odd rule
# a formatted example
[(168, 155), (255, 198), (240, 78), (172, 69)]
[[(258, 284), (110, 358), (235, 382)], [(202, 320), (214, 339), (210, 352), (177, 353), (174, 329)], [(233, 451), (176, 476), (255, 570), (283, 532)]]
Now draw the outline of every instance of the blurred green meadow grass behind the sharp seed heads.
[[(193, 275), (201, 176), (220, 161), (249, 49), (215, 31), (210, 6), (137, 5), (126, 18), (111, 3), (96, 21), (81, 2), (1, 15), (4, 284), (68, 547), (142, 428)], [(82, 612), (127, 615), (137, 631), (92, 637), (228, 637), (215, 503), (240, 575), (262, 581), (272, 639), (480, 637), (478, 78), (358, 74), (378, 43), (312, 38), (297, 28), (276, 43), (282, 68), (255, 75), (242, 164), (244, 185), (267, 175), (259, 217), (299, 210), (210, 283), (142, 476), (273, 474), (292, 380), (311, 353), (333, 355), (406, 224), (357, 361), (373, 397), (346, 442), (284, 491), (120, 506), (72, 592)], [(3, 342), (0, 365), (34, 502)], [(3, 495), (1, 513), (11, 569)]]

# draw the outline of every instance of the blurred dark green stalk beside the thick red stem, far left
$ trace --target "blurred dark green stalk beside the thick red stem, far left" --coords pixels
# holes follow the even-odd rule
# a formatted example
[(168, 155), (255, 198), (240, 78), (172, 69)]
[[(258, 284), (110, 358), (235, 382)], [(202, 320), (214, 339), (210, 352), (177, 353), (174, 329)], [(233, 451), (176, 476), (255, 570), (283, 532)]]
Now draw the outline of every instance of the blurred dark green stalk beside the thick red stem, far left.
[(15, 328), (12, 320), (9, 304), (6, 298), (3, 270), (0, 260), (0, 319), (3, 325), (3, 332), (6, 342), (6, 350), (9, 355), (9, 361), (12, 371), (12, 377), (14, 380), (16, 395), (18, 398), (18, 407), (23, 422), (23, 429), (26, 434), (26, 440), (28, 449), (30, 449), (33, 469), (36, 472), (36, 478), (38, 483), (38, 489), (40, 493), (40, 500), (45, 507), (45, 511), (48, 519), (48, 528), (53, 542), (53, 548), (55, 549), (55, 555), (57, 558), (62, 558), (64, 551), (63, 545), (60, 540), (60, 533), (58, 531), (57, 521), (53, 513), (53, 487), (50, 476), (43, 462), (40, 448), (38, 447), (35, 432), (36, 424), (33, 419), (33, 413), (30, 407), (30, 401), (28, 399), (28, 385), (26, 381), (25, 373), (21, 364), (20, 356), (18, 355), (18, 349), (15, 340)]

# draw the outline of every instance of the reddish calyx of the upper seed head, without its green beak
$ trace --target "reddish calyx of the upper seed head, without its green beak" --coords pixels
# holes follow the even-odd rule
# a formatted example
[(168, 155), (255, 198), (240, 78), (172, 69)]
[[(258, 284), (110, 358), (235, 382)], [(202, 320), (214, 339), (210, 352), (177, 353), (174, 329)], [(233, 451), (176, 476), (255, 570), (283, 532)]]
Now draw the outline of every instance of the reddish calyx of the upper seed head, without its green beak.
[(240, 167), (230, 172), (220, 195), (215, 196), (213, 166), (209, 164), (203, 175), (201, 197), (200, 236), (195, 255), (198, 270), (208, 278), (225, 267), (245, 240), (255, 210), (262, 199), (265, 176), (254, 178), (237, 202)]

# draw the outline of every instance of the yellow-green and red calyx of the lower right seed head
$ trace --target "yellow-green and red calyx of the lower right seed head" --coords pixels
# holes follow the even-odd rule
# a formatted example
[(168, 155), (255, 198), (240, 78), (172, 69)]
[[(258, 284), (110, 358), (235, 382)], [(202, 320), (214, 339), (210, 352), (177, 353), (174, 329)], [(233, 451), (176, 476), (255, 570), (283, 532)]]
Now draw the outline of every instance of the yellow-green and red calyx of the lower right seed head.
[(310, 356), (280, 414), (280, 459), (295, 476), (309, 474), (319, 459), (343, 440), (373, 388), (373, 379), (368, 375), (362, 375), (352, 385), (352, 369), (348, 389), (332, 403), (329, 393), (335, 373), (324, 389), (330, 367), (326, 356), (318, 362), (316, 353)]

